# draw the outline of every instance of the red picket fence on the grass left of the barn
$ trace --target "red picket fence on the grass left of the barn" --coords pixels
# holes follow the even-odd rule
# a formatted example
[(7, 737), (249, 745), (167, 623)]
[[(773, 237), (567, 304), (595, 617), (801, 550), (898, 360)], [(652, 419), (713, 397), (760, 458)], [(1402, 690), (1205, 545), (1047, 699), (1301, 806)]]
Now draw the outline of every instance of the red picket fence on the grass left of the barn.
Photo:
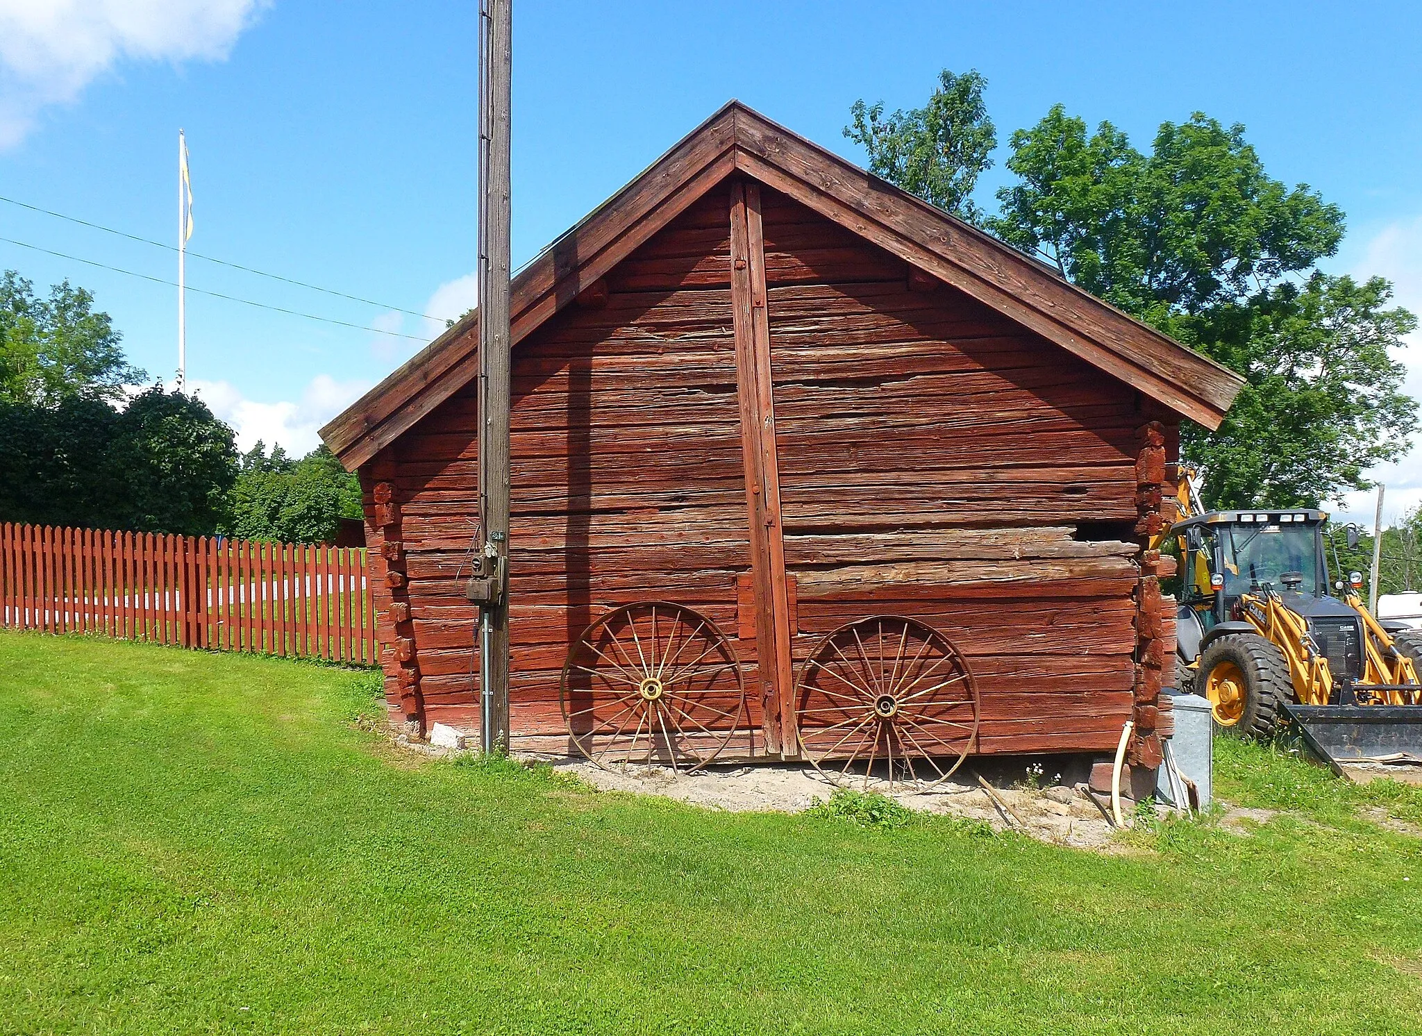
[(0, 526), (0, 625), (374, 665), (365, 551)]

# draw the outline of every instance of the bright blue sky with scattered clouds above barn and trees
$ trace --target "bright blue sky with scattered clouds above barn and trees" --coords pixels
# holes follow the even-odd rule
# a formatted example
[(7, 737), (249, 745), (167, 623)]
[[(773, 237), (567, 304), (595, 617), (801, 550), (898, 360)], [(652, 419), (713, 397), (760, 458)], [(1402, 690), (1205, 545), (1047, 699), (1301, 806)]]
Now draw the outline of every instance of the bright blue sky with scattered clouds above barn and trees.
[[(188, 283), (428, 337), (472, 298), (474, 0), (0, 0), (0, 196), (176, 236), (192, 152)], [(862, 161), (856, 98), (921, 104), (978, 68), (1007, 141), (1054, 102), (1146, 145), (1194, 109), (1249, 128), (1268, 171), (1348, 213), (1331, 269), (1382, 273), (1422, 310), (1416, 4), (552, 3), (515, 0), (515, 261), (731, 97)], [(1000, 152), (998, 161), (1005, 155)], [(1003, 169), (990, 172), (980, 202)], [(175, 257), (0, 203), (0, 236), (172, 279)], [(171, 377), (175, 290), (0, 242), (0, 267), (95, 291), (135, 362)], [(307, 449), (419, 341), (191, 296), (189, 379), (239, 428)], [(1422, 348), (1412, 387), (1422, 394)], [(1412, 357), (1408, 357), (1412, 361)], [(1422, 453), (1422, 450), (1416, 450)], [(1422, 502), (1422, 460), (1382, 472)], [(1354, 507), (1361, 502), (1355, 500)], [(1389, 506), (1392, 512), (1395, 507)]]

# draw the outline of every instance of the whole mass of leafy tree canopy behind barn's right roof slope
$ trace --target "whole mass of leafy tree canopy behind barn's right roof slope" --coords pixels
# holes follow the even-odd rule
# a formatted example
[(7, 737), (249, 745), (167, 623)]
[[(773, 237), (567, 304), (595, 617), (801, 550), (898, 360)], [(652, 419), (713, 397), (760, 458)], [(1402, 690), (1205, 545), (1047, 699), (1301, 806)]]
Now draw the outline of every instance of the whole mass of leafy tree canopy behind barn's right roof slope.
[[(889, 122), (856, 104), (856, 132), (846, 132), (876, 173), (961, 213), (971, 203), (948, 203), (937, 186), (971, 190), (956, 179), (961, 153), (900, 142), (923, 139), (930, 111), (936, 139), (991, 125), (980, 88), (974, 105), (936, 107), (947, 84), (927, 108)], [(1143, 153), (1109, 122), (1088, 134), (1055, 105), (1012, 134), (1007, 168), (1015, 180), (997, 192), (998, 215), (981, 220), (991, 233), (1246, 378), (1217, 432), (1183, 429), (1207, 503), (1317, 506), (1365, 487), (1368, 468), (1406, 450), (1416, 405), (1394, 357), (1415, 318), (1391, 306), (1382, 279), (1317, 270), (1338, 249), (1342, 212), (1307, 185), (1270, 178), (1243, 126), (1196, 112), (1162, 124)]]

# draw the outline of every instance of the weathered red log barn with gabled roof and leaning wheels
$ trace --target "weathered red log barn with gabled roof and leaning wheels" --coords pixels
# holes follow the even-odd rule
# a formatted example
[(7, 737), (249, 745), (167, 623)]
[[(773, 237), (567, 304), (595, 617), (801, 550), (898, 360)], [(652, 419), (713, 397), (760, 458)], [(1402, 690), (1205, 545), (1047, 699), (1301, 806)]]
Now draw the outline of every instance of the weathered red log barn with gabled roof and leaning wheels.
[[(512, 291), (510, 749), (1158, 763), (1145, 541), (1231, 372), (737, 102)], [(321, 431), (422, 730), (479, 718), (478, 338)]]

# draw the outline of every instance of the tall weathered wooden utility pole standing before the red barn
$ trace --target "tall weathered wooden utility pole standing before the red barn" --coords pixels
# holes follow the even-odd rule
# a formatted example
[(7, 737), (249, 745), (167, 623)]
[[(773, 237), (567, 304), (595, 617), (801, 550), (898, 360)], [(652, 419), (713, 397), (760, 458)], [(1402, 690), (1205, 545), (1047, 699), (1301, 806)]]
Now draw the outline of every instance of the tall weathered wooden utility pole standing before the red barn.
[(509, 101), (512, 0), (479, 3), (479, 740), (509, 745)]

